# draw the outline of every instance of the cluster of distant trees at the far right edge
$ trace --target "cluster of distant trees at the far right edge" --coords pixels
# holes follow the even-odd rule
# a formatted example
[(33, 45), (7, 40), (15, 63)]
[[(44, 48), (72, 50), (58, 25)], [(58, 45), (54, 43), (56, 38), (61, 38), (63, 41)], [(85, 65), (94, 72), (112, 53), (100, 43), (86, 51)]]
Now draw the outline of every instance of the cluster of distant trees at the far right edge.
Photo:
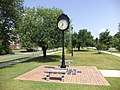
[(118, 25), (118, 32), (114, 36), (111, 36), (110, 31), (107, 29), (105, 32), (99, 34), (99, 39), (96, 38), (95, 42), (98, 50), (116, 48), (120, 51), (120, 23)]

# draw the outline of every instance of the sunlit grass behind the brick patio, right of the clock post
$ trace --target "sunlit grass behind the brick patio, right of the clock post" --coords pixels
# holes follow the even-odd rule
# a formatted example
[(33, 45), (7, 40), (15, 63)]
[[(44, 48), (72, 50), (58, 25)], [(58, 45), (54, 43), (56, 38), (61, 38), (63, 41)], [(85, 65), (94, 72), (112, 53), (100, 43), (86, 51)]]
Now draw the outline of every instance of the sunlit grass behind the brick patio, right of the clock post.
[[(66, 59), (71, 59), (67, 57)], [(98, 54), (96, 51), (75, 52), (72, 58), (75, 66), (96, 66), (98, 69), (120, 70), (120, 57), (108, 54)]]

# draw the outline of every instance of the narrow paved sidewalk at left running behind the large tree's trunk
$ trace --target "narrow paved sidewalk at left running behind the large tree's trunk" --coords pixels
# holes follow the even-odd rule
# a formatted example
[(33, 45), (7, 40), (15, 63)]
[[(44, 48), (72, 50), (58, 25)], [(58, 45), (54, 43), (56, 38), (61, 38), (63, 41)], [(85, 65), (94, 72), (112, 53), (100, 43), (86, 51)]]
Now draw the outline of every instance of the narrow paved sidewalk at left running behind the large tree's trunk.
[[(49, 53), (47, 52), (47, 55), (51, 55), (51, 54), (58, 53), (58, 52), (61, 52), (61, 51), (49, 52)], [(42, 56), (42, 55), (43, 55), (43, 54), (39, 54), (39, 56)], [(30, 59), (33, 59), (33, 58), (36, 58), (36, 57), (39, 57), (39, 56), (32, 56), (32, 57), (28, 57), (28, 58), (25, 58), (25, 59), (3, 62), (3, 63), (0, 63), (0, 68), (1, 68), (1, 67), (5, 67), (5, 66), (8, 66), (8, 65), (16, 64), (16, 63), (28, 61), (28, 60), (30, 60)]]

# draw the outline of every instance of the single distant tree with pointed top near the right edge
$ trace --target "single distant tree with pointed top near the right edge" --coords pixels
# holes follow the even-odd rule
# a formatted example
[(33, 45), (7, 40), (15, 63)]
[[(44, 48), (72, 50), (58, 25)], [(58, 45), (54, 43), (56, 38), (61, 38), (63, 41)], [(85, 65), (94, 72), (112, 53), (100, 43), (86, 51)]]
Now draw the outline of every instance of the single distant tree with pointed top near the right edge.
[(112, 45), (112, 36), (109, 35), (110, 31), (107, 29), (105, 32), (99, 34), (99, 43), (107, 46), (107, 49)]

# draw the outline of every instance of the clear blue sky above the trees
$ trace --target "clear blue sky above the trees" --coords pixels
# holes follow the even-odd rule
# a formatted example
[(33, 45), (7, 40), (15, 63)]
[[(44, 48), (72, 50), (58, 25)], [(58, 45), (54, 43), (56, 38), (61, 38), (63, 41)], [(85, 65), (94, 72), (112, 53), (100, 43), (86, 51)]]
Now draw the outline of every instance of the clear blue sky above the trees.
[(72, 20), (73, 30), (87, 29), (94, 38), (106, 29), (113, 36), (120, 23), (120, 0), (24, 0), (27, 7), (59, 8)]

